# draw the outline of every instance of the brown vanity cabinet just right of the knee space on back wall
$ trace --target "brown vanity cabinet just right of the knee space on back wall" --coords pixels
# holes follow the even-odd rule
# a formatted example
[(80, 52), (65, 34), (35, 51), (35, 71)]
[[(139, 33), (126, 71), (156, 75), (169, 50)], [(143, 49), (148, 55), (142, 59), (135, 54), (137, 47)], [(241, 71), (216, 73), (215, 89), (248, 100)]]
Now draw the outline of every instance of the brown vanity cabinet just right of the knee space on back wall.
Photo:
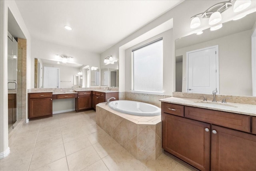
[(76, 111), (92, 108), (92, 91), (78, 91)]

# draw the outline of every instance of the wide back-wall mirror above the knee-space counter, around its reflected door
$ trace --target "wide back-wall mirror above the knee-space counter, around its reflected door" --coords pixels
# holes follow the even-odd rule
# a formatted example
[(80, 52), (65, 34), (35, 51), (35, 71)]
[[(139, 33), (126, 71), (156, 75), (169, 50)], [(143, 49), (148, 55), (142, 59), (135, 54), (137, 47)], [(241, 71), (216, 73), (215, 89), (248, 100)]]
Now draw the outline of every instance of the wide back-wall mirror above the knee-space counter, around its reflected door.
[[(35, 58), (35, 88), (46, 88), (44, 87), (44, 68), (59, 68), (59, 88), (71, 88), (71, 87), (82, 87), (83, 76), (79, 76), (78, 72), (82, 71), (83, 65), (81, 64), (72, 64), (72, 63), (57, 63), (57, 61), (46, 60)], [(79, 84), (78, 84), (79, 82)]]

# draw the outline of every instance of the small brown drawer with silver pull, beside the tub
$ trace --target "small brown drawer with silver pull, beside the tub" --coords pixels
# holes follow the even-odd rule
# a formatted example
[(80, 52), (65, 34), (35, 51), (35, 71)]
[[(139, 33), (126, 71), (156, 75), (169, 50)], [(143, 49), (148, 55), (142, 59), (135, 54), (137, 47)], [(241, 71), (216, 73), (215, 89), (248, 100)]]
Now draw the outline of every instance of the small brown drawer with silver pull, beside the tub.
[(184, 117), (184, 105), (176, 105), (172, 103), (162, 103), (162, 110), (164, 113)]

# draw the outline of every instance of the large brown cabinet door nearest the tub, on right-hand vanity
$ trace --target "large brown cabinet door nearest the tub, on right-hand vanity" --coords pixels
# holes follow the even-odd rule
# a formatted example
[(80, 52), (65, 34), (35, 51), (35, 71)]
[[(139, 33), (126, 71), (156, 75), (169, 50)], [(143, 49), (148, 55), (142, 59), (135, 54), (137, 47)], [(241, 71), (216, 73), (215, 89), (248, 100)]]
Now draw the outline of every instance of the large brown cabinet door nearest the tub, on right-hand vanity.
[(163, 113), (162, 131), (164, 150), (201, 171), (210, 170), (210, 124)]

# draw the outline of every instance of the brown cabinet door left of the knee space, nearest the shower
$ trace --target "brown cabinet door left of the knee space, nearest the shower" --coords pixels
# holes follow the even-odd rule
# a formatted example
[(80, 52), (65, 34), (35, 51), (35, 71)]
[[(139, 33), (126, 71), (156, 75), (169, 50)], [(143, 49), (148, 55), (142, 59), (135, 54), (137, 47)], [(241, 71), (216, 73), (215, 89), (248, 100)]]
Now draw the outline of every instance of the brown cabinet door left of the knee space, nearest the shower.
[(52, 115), (52, 97), (29, 99), (29, 118)]

